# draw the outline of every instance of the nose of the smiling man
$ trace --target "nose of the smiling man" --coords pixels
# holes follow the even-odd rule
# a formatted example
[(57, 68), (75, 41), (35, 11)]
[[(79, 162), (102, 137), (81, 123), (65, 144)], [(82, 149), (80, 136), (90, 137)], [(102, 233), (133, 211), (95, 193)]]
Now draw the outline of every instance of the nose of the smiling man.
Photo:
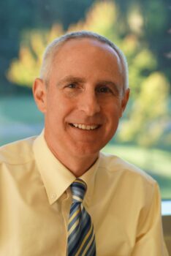
[(94, 116), (100, 111), (99, 100), (95, 91), (84, 91), (79, 100), (79, 109), (83, 111), (86, 116)]

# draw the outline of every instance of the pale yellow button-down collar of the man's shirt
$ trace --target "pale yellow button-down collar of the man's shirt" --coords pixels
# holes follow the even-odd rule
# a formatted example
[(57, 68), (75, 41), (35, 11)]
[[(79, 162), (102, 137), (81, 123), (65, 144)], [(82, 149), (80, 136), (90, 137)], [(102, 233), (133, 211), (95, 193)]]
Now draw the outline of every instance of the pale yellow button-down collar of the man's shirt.
[[(53, 204), (59, 197), (61, 197), (72, 182), (75, 181), (75, 176), (62, 165), (50, 151), (44, 138), (44, 132), (34, 140), (33, 150), (49, 203)], [(87, 170), (86, 173), (79, 177), (86, 182), (88, 187), (86, 203), (88, 203), (91, 193), (93, 192), (94, 179), (98, 165), (99, 159), (97, 159), (95, 164)]]

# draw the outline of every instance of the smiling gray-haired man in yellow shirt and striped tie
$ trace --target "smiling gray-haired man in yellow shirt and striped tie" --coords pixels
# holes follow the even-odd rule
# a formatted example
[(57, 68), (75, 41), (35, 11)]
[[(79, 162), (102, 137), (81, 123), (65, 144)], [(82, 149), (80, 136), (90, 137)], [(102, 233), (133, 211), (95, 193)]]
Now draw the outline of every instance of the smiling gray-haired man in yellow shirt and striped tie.
[(126, 108), (127, 77), (121, 50), (98, 34), (47, 47), (33, 86), (45, 129), (1, 147), (0, 255), (167, 255), (156, 181), (99, 153)]

